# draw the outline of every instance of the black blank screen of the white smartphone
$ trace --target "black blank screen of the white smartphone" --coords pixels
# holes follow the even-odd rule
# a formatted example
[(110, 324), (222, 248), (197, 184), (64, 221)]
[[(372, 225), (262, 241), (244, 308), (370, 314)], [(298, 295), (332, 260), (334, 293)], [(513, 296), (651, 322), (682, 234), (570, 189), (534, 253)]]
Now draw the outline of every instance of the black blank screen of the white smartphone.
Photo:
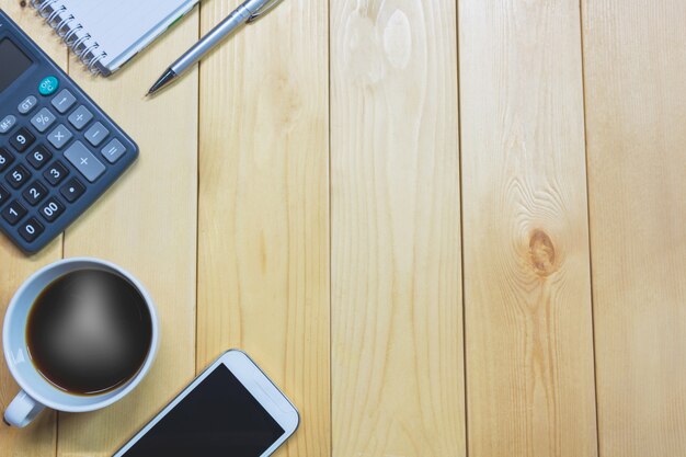
[(259, 457), (284, 433), (221, 364), (124, 457)]

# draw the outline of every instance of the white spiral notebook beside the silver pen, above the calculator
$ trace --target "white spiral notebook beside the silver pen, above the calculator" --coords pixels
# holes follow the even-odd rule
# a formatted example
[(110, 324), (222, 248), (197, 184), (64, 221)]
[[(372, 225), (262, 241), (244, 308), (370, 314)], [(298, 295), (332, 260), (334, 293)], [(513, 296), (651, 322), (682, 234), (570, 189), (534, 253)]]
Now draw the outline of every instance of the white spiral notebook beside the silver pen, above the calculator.
[(110, 76), (199, 0), (31, 0), (93, 72)]

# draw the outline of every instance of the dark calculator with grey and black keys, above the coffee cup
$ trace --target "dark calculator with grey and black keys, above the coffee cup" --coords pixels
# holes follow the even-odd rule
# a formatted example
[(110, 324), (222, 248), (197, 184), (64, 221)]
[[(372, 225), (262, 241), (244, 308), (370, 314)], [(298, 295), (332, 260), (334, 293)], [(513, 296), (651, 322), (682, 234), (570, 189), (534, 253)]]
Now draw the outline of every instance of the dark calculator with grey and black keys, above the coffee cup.
[(43, 249), (138, 157), (136, 144), (0, 10), (0, 230)]

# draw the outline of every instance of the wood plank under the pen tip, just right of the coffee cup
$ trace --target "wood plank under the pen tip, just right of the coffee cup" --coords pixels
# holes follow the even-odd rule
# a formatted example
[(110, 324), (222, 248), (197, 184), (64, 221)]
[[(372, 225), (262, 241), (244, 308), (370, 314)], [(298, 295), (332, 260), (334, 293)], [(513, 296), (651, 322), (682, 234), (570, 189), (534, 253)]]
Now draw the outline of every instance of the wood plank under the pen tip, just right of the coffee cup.
[(194, 376), (197, 221), (197, 71), (152, 100), (144, 94), (197, 39), (197, 12), (110, 79), (75, 59), (71, 75), (138, 142), (140, 158), (65, 237), (65, 255), (115, 262), (157, 302), (160, 351), (148, 378), (119, 403), (59, 416), (58, 455), (111, 456)]

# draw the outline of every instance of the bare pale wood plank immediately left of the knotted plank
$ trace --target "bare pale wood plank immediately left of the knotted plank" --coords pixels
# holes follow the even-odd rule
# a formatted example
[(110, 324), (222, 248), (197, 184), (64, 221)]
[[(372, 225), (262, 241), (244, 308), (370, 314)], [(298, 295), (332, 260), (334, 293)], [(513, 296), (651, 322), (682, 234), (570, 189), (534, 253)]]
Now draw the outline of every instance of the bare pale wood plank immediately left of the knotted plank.
[(332, 1), (333, 456), (464, 456), (456, 4)]

